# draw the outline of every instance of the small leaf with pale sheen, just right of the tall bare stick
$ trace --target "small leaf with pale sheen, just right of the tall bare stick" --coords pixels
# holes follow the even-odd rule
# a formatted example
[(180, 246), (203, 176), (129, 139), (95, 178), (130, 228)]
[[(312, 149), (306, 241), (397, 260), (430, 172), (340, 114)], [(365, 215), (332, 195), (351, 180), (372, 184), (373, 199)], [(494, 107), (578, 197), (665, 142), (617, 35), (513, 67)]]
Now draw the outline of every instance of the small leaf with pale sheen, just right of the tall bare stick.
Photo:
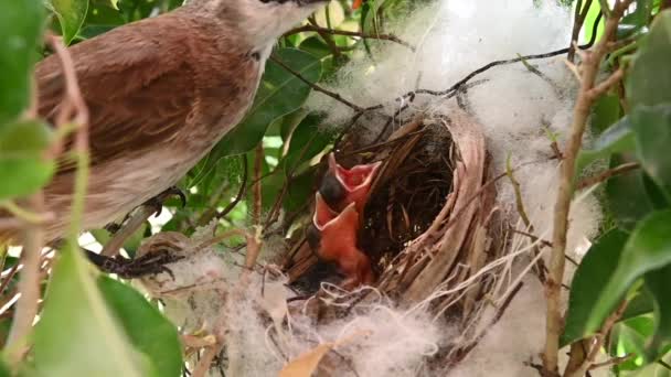
[(635, 147), (631, 121), (628, 117), (624, 117), (601, 132), (589, 149), (581, 150), (576, 161), (576, 172), (579, 174), (590, 163), (607, 159), (613, 153), (632, 151)]

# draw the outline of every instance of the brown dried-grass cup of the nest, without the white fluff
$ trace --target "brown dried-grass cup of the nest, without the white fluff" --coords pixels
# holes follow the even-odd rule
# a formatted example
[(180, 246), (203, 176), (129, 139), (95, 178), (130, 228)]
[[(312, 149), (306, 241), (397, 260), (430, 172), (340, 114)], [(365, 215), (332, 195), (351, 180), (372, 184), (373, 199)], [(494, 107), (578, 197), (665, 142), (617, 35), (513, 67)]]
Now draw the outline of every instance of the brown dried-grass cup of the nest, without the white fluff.
[[(494, 306), (487, 317), (493, 323), (521, 287), (505, 280), (514, 256), (504, 252), (508, 235), (487, 175), (481, 126), (459, 108), (439, 106), (412, 116), (386, 142), (362, 152), (358, 138), (343, 140), (337, 150), (343, 164), (384, 161), (360, 234), (379, 280), (375, 294), (364, 290), (355, 300), (343, 298), (345, 305), (322, 303), (318, 321), (341, 317), (381, 293), (460, 324), (460, 336), (436, 356), (440, 365), (458, 362), (487, 330), (481, 320), (488, 306)], [(291, 281), (317, 260), (305, 246), (294, 250), (299, 252), (285, 263)]]

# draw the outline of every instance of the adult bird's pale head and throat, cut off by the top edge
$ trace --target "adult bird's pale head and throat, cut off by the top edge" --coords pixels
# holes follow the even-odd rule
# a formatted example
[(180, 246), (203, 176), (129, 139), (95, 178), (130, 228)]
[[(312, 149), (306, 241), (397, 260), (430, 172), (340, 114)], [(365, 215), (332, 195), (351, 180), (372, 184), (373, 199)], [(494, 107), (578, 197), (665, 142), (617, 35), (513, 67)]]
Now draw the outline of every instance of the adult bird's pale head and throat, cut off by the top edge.
[(191, 0), (210, 14), (235, 25), (248, 43), (257, 47), (275, 40), (308, 18), (330, 0)]

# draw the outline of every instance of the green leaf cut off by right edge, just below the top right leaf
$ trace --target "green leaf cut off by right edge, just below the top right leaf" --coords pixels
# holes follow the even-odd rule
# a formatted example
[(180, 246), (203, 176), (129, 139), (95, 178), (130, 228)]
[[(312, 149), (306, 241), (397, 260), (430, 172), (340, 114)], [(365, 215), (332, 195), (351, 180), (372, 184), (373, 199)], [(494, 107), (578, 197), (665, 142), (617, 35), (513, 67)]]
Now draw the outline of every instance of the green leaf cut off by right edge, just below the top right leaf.
[(671, 103), (638, 106), (631, 114), (631, 123), (643, 169), (671, 197)]

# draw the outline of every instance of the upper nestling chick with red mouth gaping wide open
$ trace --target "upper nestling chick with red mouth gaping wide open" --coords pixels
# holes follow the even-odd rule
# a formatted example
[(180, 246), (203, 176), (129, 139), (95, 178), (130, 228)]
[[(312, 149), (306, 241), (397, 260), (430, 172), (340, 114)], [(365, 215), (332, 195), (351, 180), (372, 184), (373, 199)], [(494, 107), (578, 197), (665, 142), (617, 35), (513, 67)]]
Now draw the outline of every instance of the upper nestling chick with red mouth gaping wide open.
[(371, 184), (382, 162), (342, 168), (333, 153), (329, 155), (329, 171), (323, 177), (319, 193), (326, 203), (337, 212), (354, 203), (356, 213), (363, 214), (369, 200)]

